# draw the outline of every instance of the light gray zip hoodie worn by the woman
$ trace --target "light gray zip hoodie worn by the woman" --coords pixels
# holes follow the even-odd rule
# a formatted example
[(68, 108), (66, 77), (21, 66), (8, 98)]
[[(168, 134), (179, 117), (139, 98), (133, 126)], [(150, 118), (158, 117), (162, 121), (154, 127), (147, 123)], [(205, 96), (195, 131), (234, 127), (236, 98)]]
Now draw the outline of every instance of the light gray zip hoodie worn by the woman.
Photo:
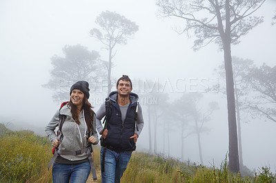
[[(60, 111), (57, 111), (55, 116), (52, 117), (52, 120), (50, 120), (49, 124), (46, 126), (45, 131), (49, 140), (53, 142), (53, 140), (58, 138), (55, 133), (55, 129), (59, 125), (59, 113), (61, 115), (66, 115), (66, 120), (64, 121), (62, 126), (63, 138), (61, 139), (59, 144), (59, 151), (72, 152), (78, 151), (80, 149), (85, 149), (88, 146), (88, 140), (86, 138), (86, 131), (88, 130), (88, 127), (83, 118), (84, 111), (82, 110), (79, 114), (79, 122), (81, 122), (81, 124), (77, 125), (75, 120), (72, 118), (69, 105), (65, 105), (61, 108)], [(95, 143), (97, 144), (99, 140), (95, 127), (96, 115), (94, 115), (93, 120), (92, 136), (95, 136), (95, 138), (97, 139), (97, 142)], [(88, 155), (86, 155), (86, 153), (82, 153), (81, 155), (61, 155), (61, 157), (66, 158), (67, 160), (75, 161), (88, 158)]]

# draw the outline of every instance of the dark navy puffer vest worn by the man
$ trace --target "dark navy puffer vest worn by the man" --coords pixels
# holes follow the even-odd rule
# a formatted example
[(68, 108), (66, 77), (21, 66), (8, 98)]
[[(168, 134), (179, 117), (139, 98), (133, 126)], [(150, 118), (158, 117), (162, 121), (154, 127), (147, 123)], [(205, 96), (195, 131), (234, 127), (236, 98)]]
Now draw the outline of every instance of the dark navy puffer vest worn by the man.
[(119, 151), (135, 150), (134, 139), (130, 139), (135, 133), (135, 109), (137, 107), (137, 94), (130, 93), (130, 104), (126, 112), (126, 118), (121, 121), (121, 110), (117, 103), (117, 92), (111, 92), (110, 118), (108, 120), (108, 135), (106, 136), (106, 147), (111, 146)]

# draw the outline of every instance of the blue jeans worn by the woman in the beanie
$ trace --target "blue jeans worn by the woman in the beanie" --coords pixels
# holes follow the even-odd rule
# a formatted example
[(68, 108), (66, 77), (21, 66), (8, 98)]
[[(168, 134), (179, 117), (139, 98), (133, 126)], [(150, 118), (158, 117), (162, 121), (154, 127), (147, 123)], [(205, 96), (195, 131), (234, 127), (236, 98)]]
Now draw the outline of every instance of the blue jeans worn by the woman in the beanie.
[(52, 182), (86, 182), (90, 173), (89, 162), (80, 164), (52, 164)]

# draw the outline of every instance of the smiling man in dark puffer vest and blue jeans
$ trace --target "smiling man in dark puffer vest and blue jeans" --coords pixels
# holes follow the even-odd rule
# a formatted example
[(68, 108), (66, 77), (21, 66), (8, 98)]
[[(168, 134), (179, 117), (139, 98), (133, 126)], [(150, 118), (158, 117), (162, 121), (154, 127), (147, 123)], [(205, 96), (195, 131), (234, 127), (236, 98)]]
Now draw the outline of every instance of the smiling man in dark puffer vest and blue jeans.
[[(101, 182), (120, 182), (144, 127), (141, 106), (137, 94), (131, 92), (130, 78), (126, 75), (119, 78), (116, 89), (96, 113), (96, 128), (101, 135)], [(103, 116), (106, 116), (104, 127)]]

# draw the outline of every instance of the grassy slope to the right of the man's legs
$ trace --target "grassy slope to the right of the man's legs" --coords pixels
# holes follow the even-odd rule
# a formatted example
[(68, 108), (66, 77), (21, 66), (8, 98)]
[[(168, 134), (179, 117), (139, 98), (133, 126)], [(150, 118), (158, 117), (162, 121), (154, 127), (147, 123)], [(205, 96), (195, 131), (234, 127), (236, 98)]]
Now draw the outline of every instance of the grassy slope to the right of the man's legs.
[(219, 168), (179, 162), (148, 153), (133, 153), (121, 182), (276, 182), (275, 173), (262, 167), (254, 176), (228, 171), (228, 158)]

